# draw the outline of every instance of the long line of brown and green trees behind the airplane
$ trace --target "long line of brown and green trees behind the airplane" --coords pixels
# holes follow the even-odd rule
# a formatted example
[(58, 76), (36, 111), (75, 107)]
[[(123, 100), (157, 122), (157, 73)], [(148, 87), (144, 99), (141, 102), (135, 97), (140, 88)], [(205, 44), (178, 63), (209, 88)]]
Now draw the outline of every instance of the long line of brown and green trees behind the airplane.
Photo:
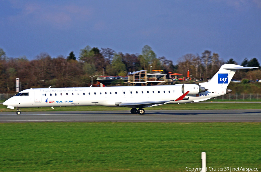
[[(77, 58), (74, 52), (67, 57), (51, 57), (41, 53), (33, 60), (25, 56), (10, 58), (0, 48), (0, 92), (14, 92), (15, 78), (20, 78), (22, 90), (28, 88), (49, 87), (86, 87), (90, 85), (90, 76), (102, 76), (105, 67), (107, 76), (126, 76), (138, 70), (163, 69), (164, 73), (178, 72), (186, 76), (187, 70), (195, 78), (211, 78), (225, 62), (217, 53), (206, 50), (201, 55), (185, 54), (173, 64), (166, 57), (157, 57), (152, 48), (145, 45), (141, 53), (128, 54), (115, 52), (110, 48), (86, 46), (80, 50)], [(236, 62), (229, 59), (226, 63)], [(260, 67), (256, 58), (244, 59), (243, 66)], [(237, 75), (238, 76), (238, 75)], [(241, 72), (240, 77), (256, 78), (260, 70)], [(250, 78), (251, 79), (251, 78)]]

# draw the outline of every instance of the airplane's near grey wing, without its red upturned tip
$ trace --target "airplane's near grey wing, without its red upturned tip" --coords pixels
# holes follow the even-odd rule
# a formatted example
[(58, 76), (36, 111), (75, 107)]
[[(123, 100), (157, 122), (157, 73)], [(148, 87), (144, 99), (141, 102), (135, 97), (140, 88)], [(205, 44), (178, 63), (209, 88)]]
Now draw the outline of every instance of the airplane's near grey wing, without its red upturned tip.
[(148, 101), (148, 102), (116, 102), (115, 105), (122, 106), (139, 106), (146, 105), (147, 107), (158, 106), (169, 103), (169, 101)]

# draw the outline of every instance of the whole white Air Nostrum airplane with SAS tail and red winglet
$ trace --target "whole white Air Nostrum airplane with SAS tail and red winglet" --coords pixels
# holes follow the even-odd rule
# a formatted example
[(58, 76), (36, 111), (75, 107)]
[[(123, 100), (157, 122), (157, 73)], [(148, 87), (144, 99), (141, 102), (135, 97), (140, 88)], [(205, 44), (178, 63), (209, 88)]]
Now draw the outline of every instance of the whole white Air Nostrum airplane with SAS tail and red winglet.
[(222, 65), (208, 82), (197, 84), (176, 84), (160, 86), (125, 87), (72, 87), (72, 88), (34, 88), (26, 89), (9, 98), (3, 105), (16, 107), (21, 114), (23, 107), (66, 107), (92, 106), (128, 107), (131, 114), (144, 114), (145, 107), (168, 103), (194, 103), (231, 92), (227, 89), (235, 71), (254, 69), (234, 64)]

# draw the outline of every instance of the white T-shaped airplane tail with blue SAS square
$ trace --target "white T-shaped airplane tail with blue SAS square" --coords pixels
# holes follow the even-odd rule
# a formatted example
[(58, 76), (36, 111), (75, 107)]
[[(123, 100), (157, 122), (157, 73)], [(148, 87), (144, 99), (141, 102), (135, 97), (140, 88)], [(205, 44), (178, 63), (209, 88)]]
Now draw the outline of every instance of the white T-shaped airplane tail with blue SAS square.
[[(211, 88), (227, 88), (229, 85), (231, 79), (233, 78), (236, 70), (238, 69), (254, 69), (257, 67), (244, 67), (240, 65), (234, 65), (234, 64), (225, 64), (222, 65), (219, 69), (219, 71), (209, 80), (205, 83), (200, 83), (199, 85), (202, 87), (205, 87), (206, 89)], [(226, 89), (226, 92), (229, 93), (229, 89)]]

